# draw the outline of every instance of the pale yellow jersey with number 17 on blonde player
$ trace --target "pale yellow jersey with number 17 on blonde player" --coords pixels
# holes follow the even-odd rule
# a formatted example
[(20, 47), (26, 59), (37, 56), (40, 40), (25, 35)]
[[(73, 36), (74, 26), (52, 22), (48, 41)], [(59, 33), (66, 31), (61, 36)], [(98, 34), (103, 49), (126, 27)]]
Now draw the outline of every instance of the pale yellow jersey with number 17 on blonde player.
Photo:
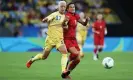
[(65, 19), (65, 14), (54, 12), (47, 16), (48, 19), (48, 32), (47, 35), (51, 38), (63, 38), (62, 23)]

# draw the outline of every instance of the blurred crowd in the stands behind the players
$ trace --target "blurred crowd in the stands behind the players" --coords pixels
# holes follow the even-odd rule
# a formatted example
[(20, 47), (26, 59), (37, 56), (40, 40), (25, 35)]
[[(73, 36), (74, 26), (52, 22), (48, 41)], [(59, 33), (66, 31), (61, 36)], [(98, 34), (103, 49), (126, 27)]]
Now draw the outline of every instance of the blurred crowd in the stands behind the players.
[[(45, 37), (47, 23), (42, 19), (57, 9), (60, 0), (0, 0), (0, 37)], [(107, 0), (66, 0), (75, 2), (77, 13), (95, 21), (102, 13), (107, 24), (121, 24)], [(89, 35), (88, 35), (89, 36)]]

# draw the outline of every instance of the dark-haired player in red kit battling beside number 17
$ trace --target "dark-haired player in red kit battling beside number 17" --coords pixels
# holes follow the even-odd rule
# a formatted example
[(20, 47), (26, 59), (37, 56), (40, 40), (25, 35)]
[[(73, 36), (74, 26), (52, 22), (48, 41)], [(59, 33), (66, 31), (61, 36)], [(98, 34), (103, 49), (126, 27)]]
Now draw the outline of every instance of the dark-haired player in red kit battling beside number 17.
[(78, 65), (80, 62), (80, 48), (76, 40), (76, 27), (77, 22), (80, 22), (84, 26), (87, 25), (89, 18), (86, 18), (85, 21), (82, 21), (78, 14), (75, 13), (75, 4), (69, 3), (66, 8), (66, 21), (64, 25), (67, 25), (67, 28), (64, 28), (64, 43), (67, 47), (69, 55), (69, 64), (66, 68), (66, 71), (62, 73), (62, 78), (67, 77), (70, 72)]

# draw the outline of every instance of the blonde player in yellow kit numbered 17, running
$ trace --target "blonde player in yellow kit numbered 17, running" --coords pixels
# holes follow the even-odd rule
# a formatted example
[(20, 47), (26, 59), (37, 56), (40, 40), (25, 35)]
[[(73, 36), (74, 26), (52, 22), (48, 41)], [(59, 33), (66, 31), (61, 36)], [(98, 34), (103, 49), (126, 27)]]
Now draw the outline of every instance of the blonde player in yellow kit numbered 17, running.
[(45, 40), (45, 48), (43, 53), (37, 54), (35, 57), (31, 58), (26, 66), (29, 68), (31, 64), (37, 60), (47, 59), (51, 50), (56, 47), (56, 49), (62, 53), (61, 65), (62, 71), (65, 70), (67, 64), (67, 49), (63, 41), (63, 27), (62, 22), (66, 20), (65, 18), (66, 2), (60, 1), (58, 4), (58, 11), (50, 14), (42, 21), (48, 23), (48, 32)]

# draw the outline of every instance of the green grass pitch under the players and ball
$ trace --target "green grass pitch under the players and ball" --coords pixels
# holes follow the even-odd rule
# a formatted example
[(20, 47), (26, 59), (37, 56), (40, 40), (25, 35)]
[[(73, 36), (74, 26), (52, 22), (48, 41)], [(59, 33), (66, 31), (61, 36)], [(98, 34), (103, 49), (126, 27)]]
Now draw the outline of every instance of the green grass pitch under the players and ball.
[[(30, 69), (25, 64), (37, 53), (0, 53), (0, 80), (62, 80), (59, 53), (50, 54), (45, 61), (35, 62)], [(101, 62), (110, 56), (115, 61), (112, 69), (105, 69)], [(101, 53), (100, 60), (93, 61), (92, 54), (85, 54), (71, 74), (72, 80), (133, 80), (133, 53)]]

